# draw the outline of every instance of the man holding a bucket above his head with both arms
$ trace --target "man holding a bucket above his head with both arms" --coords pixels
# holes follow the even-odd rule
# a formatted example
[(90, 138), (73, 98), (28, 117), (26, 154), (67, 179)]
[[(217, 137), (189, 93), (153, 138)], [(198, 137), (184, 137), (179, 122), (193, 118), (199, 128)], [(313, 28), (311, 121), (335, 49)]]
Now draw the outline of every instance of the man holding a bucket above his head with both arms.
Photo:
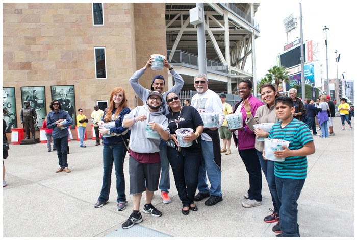
[[(182, 87), (184, 86), (184, 80), (183, 78), (176, 73), (176, 71), (173, 69), (173, 67), (170, 66), (170, 63), (164, 58), (164, 67), (168, 68), (170, 70), (170, 73), (172, 74), (173, 79), (175, 80), (175, 85), (173, 85), (172, 89), (168, 90), (167, 92), (164, 92), (165, 88), (165, 79), (162, 75), (157, 75), (152, 79), (152, 84), (151, 84), (151, 91), (149, 89), (144, 88), (143, 86), (140, 85), (139, 83), (139, 78), (144, 75), (146, 69), (148, 69), (152, 63), (154, 62), (154, 58), (151, 56), (149, 57), (149, 60), (147, 61), (146, 65), (141, 68), (140, 70), (137, 70), (133, 76), (130, 78), (129, 83), (134, 89), (135, 93), (138, 95), (138, 97), (145, 102), (147, 100), (147, 96), (151, 91), (158, 91), (163, 95), (163, 99), (161, 101), (161, 107), (164, 109), (163, 114), (164, 116), (169, 112), (168, 111), (168, 106), (165, 103), (165, 99), (167, 94), (170, 92), (174, 92), (176, 94), (179, 94), (181, 91)], [(159, 188), (161, 189), (161, 198), (163, 200), (163, 203), (170, 203), (171, 199), (168, 196), (169, 189), (170, 189), (170, 163), (169, 160), (167, 159), (166, 156), (166, 149), (167, 149), (167, 144), (166, 141), (161, 141), (160, 143), (160, 157), (161, 157), (161, 178), (160, 178), (160, 185)]]

